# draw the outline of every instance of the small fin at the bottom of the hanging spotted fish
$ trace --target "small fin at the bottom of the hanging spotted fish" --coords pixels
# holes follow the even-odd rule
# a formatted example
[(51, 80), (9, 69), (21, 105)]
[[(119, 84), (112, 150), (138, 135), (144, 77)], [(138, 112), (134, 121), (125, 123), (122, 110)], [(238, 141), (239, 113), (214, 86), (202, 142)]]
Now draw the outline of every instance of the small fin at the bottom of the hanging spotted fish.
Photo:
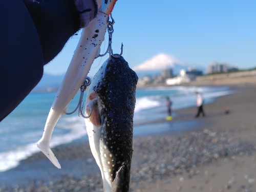
[[(116, 172), (116, 178), (111, 185), (111, 192), (129, 191), (129, 182), (127, 183), (127, 164), (123, 163)], [(128, 186), (127, 186), (128, 185)]]

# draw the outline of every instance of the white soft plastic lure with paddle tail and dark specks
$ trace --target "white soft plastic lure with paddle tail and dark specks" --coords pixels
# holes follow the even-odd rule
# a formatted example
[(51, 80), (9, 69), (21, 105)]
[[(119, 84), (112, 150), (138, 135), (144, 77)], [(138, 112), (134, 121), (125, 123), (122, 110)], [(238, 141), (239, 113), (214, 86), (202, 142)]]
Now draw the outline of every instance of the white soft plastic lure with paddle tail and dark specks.
[(68, 104), (79, 90), (85, 77), (87, 77), (94, 59), (97, 57), (97, 52), (104, 40), (106, 28), (108, 27), (109, 15), (117, 0), (100, 1), (97, 1), (99, 9), (96, 18), (86, 28), (82, 29), (80, 40), (67, 73), (51, 106), (44, 134), (36, 143), (42, 153), (58, 168), (61, 168), (60, 164), (50, 148), (53, 129), (59, 118), (66, 114)]

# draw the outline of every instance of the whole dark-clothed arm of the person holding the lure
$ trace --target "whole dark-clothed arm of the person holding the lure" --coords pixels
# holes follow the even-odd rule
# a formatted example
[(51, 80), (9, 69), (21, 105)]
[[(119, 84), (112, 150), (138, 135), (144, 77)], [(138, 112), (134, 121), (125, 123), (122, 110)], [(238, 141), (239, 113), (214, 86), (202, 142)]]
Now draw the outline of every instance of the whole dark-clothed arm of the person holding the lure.
[(0, 121), (30, 93), (44, 65), (98, 11), (96, 0), (0, 2)]

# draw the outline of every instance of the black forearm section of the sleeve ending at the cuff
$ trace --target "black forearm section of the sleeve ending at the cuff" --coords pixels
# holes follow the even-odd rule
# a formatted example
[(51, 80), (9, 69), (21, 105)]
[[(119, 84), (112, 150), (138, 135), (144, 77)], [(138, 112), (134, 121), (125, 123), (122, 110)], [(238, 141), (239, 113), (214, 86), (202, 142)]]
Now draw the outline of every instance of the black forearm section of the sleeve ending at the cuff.
[(37, 30), (45, 64), (96, 17), (95, 0), (23, 0)]

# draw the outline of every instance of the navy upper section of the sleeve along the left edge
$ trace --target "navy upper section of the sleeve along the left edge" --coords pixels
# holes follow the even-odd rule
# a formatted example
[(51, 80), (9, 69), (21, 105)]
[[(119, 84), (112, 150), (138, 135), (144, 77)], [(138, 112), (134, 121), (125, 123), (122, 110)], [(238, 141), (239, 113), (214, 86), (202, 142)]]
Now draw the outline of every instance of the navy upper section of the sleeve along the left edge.
[(0, 3), (0, 121), (42, 77), (43, 55), (33, 20), (22, 1)]

